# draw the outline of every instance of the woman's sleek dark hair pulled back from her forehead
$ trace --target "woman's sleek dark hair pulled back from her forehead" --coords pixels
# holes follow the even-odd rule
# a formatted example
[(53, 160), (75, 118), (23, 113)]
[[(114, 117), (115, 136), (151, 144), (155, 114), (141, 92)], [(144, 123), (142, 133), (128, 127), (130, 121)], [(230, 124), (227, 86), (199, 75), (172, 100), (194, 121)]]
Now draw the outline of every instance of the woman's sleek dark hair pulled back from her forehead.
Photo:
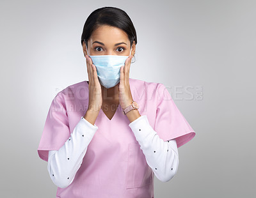
[(132, 20), (124, 10), (115, 7), (98, 8), (89, 15), (84, 24), (81, 44), (83, 45), (83, 42), (85, 42), (87, 46), (88, 39), (92, 35), (93, 31), (101, 25), (113, 26), (122, 29), (128, 35), (131, 45), (133, 41), (137, 44), (136, 30), (132, 24)]

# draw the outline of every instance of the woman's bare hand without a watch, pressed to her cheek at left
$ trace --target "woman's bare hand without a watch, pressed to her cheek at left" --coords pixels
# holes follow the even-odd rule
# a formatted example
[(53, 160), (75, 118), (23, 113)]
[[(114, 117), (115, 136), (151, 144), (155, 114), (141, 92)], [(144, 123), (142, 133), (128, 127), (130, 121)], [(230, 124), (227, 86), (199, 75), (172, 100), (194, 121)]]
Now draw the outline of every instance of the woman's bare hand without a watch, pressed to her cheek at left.
[[(102, 94), (101, 94), (101, 86), (97, 75), (97, 68), (92, 63), (92, 59), (85, 55), (86, 57), (86, 66), (87, 73), (89, 79), (89, 103), (87, 109), (87, 116), (84, 115), (84, 118), (90, 121), (90, 123), (95, 123), (95, 119), (97, 118), (99, 111), (102, 107)], [(90, 116), (88, 116), (88, 113)], [(90, 120), (89, 120), (90, 119)]]

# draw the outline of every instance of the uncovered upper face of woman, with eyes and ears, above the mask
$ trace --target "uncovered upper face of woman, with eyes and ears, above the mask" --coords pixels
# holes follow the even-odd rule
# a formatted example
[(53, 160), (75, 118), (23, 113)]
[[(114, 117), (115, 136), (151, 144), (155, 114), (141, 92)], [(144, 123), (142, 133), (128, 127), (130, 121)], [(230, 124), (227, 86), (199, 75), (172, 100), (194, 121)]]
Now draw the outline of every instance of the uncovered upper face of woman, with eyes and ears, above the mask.
[[(83, 42), (84, 54), (90, 56), (100, 55), (118, 55), (129, 56), (131, 50), (131, 43), (127, 34), (118, 27), (99, 26), (88, 40), (88, 53), (86, 52), (86, 45)], [(135, 52), (135, 42), (132, 43), (131, 56)]]

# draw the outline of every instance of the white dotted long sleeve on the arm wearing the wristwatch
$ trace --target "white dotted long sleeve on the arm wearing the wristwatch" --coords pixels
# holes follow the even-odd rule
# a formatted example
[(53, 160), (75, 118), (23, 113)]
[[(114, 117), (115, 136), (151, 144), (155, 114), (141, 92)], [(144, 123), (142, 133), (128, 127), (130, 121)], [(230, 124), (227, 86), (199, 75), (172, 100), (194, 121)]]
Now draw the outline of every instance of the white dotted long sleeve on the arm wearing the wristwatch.
[(140, 144), (148, 166), (154, 171), (156, 177), (163, 182), (172, 179), (179, 167), (176, 140), (164, 142), (150, 126), (146, 115), (135, 119), (129, 126)]

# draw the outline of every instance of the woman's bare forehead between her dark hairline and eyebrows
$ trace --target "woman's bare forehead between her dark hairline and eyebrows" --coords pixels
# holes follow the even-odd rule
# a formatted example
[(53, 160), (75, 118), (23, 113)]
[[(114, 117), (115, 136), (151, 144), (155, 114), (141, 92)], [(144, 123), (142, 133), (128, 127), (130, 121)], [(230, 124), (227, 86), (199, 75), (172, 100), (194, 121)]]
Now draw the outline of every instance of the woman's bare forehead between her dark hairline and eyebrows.
[(129, 42), (125, 31), (113, 26), (99, 26), (95, 29), (90, 37), (90, 41), (95, 40), (103, 43)]

